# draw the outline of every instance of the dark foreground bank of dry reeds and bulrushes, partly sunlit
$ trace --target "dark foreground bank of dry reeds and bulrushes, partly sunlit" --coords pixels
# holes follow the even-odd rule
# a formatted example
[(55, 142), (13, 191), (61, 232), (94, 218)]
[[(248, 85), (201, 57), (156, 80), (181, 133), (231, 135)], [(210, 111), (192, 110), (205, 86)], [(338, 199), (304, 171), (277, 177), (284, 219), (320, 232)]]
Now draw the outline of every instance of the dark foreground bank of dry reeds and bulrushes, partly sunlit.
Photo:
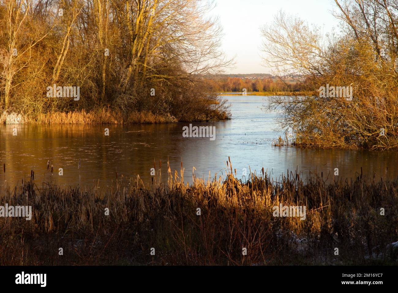
[[(0, 265), (397, 264), (398, 179), (327, 185), (261, 173), (242, 182), (229, 166), (225, 181), (192, 175), (185, 185), (181, 169), (159, 183), (157, 171), (149, 184), (119, 177), (107, 191), (61, 189), (32, 173), (2, 191), (0, 205), (31, 205), (33, 216), (0, 218)], [(306, 206), (306, 219), (273, 216), (280, 204)]]

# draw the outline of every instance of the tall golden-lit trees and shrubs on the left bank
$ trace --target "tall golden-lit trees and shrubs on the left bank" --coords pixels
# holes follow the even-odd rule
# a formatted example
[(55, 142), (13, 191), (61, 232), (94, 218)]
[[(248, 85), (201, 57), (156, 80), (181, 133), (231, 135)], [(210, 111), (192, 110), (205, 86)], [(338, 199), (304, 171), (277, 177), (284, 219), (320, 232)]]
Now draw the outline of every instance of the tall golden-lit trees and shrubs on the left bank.
[[(198, 0), (0, 0), (1, 122), (228, 117), (201, 79), (231, 63), (219, 50), (218, 20), (206, 17), (212, 7)], [(79, 87), (80, 99), (47, 96), (54, 84)]]

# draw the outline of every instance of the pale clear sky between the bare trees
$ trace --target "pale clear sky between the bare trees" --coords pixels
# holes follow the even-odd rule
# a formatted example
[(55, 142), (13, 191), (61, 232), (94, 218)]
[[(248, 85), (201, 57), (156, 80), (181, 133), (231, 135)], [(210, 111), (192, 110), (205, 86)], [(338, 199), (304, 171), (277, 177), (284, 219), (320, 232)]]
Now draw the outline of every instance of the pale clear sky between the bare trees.
[(260, 27), (270, 23), (273, 16), (283, 10), (300, 17), (308, 24), (321, 26), (324, 33), (338, 28), (331, 11), (336, 9), (334, 0), (215, 0), (213, 15), (220, 18), (224, 36), (222, 51), (227, 57), (235, 57), (235, 68), (225, 73), (271, 73), (261, 64)]

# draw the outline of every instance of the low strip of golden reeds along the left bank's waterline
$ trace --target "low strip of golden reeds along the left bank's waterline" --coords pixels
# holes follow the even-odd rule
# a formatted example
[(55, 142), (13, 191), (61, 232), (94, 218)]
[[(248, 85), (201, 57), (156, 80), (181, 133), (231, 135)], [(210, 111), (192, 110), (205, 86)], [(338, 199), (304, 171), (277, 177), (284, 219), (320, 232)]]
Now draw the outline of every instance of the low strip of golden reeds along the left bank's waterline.
[(101, 108), (86, 112), (50, 112), (39, 114), (17, 114), (3, 112), (0, 124), (131, 124), (177, 122), (170, 114), (154, 114), (149, 111), (124, 113), (119, 110)]

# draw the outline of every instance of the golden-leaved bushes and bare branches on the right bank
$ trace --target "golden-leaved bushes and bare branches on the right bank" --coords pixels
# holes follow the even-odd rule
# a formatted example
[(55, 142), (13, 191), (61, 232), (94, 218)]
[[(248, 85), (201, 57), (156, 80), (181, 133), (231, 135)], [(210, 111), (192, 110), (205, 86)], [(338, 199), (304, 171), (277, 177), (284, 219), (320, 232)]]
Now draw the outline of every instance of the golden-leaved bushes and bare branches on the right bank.
[[(335, 0), (339, 34), (323, 35), (283, 12), (262, 29), (265, 61), (305, 77), (310, 95), (271, 97), (295, 145), (388, 149), (398, 147), (398, 1)], [(353, 87), (353, 100), (320, 97), (326, 85)], [(383, 133), (385, 135), (381, 135)]]

